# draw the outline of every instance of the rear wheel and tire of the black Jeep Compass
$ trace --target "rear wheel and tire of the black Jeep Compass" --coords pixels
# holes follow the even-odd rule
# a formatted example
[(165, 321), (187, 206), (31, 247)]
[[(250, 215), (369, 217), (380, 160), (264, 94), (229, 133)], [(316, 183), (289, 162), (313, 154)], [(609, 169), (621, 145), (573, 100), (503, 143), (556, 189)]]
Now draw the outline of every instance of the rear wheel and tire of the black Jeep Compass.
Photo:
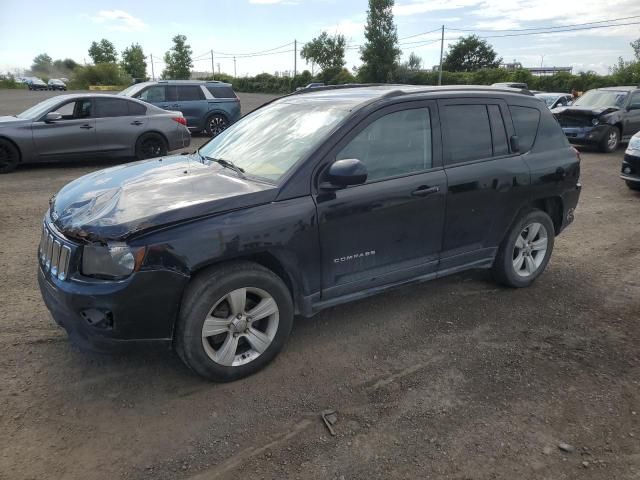
[(555, 229), (549, 215), (541, 210), (522, 214), (498, 249), (493, 264), (496, 281), (513, 288), (531, 285), (549, 263), (554, 240)]

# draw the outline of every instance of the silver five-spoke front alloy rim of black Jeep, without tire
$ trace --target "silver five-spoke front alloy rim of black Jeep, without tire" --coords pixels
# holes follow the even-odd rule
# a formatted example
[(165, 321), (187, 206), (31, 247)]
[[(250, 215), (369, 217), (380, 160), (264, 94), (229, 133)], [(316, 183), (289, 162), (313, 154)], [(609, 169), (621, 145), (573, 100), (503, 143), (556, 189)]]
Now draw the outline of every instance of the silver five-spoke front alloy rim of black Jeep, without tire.
[(238, 288), (211, 308), (202, 325), (202, 345), (215, 363), (235, 367), (252, 362), (278, 331), (276, 301), (260, 288)]

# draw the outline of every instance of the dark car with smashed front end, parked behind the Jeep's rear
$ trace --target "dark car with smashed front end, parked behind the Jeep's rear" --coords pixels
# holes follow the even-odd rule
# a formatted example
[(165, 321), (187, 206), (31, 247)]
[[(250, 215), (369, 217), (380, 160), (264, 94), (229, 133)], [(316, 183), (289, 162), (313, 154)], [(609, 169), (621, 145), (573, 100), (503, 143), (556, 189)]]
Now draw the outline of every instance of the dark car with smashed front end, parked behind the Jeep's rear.
[(571, 106), (553, 110), (571, 143), (614, 152), (640, 131), (640, 89), (607, 87), (589, 90)]

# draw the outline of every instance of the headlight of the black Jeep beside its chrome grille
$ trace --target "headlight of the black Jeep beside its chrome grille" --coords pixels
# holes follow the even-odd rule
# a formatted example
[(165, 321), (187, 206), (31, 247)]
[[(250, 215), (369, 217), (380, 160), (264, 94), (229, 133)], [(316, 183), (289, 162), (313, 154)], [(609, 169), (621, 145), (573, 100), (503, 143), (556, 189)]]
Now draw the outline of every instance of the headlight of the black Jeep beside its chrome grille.
[(82, 273), (89, 277), (125, 278), (136, 271), (144, 257), (144, 248), (124, 243), (86, 245), (82, 251)]

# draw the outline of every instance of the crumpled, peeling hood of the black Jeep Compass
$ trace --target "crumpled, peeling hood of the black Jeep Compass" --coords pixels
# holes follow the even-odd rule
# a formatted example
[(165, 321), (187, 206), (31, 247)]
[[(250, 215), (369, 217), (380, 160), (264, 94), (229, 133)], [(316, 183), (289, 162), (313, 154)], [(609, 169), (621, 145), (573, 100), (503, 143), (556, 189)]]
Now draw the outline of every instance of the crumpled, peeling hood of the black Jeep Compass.
[(274, 185), (240, 178), (187, 155), (144, 160), (78, 178), (52, 198), (49, 216), (65, 235), (124, 240), (167, 224), (271, 202)]

